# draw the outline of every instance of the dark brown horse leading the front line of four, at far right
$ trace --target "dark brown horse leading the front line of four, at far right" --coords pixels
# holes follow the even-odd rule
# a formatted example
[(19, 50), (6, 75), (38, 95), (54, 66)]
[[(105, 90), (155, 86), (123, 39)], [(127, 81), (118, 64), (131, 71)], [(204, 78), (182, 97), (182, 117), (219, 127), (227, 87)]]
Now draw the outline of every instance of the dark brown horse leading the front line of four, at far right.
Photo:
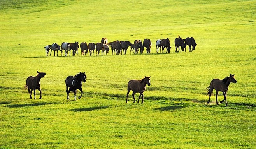
[[(225, 100), (226, 101), (226, 106), (228, 106), (227, 99), (226, 99), (228, 86), (229, 86), (230, 83), (237, 83), (237, 80), (235, 80), (234, 75), (235, 74), (233, 74), (233, 75), (230, 74), (229, 77), (226, 77), (223, 80), (213, 79), (210, 82), (210, 86), (206, 88), (207, 91), (208, 91), (207, 95), (209, 95), (209, 100), (207, 101), (207, 104), (210, 102), (210, 96), (212, 95), (213, 89), (215, 89), (215, 91), (216, 91), (215, 96), (216, 96), (217, 105), (219, 105), (219, 103), (223, 103), (223, 101)], [(218, 93), (219, 93), (219, 91), (222, 91), (224, 99), (218, 103)]]

